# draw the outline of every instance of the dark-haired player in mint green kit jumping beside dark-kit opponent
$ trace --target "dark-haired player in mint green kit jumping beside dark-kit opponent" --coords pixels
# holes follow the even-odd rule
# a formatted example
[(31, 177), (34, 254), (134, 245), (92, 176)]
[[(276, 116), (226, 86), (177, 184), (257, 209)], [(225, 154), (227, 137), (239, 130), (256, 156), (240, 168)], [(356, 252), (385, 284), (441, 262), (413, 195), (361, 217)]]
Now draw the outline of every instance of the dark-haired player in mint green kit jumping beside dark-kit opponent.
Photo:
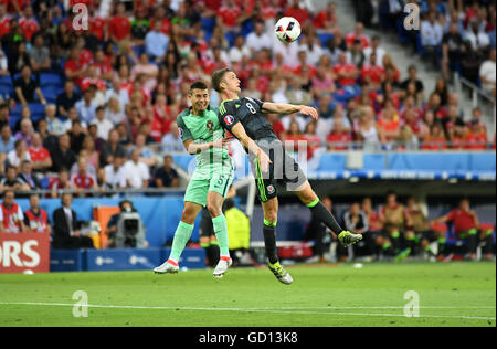
[(219, 123), (219, 110), (209, 105), (209, 88), (194, 82), (188, 95), (191, 107), (177, 117), (181, 140), (189, 154), (197, 156), (197, 168), (184, 194), (184, 209), (175, 233), (169, 258), (154, 272), (178, 273), (179, 258), (193, 231), (194, 220), (207, 207), (220, 247), (220, 261), (214, 277), (222, 277), (232, 261), (228, 246), (226, 220), (222, 212), (224, 198), (233, 182), (233, 163), (225, 148), (224, 129)]

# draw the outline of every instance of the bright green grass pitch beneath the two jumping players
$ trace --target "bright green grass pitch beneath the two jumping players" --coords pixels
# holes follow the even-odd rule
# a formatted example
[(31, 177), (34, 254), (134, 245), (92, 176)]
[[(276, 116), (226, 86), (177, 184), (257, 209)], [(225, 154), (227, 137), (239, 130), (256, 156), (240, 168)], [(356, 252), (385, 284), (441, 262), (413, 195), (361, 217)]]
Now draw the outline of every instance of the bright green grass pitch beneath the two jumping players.
[[(0, 326), (496, 326), (495, 263), (0, 275)], [(87, 317), (73, 294), (87, 295)], [(409, 290), (419, 317), (405, 317)], [(80, 313), (81, 314), (81, 313)]]

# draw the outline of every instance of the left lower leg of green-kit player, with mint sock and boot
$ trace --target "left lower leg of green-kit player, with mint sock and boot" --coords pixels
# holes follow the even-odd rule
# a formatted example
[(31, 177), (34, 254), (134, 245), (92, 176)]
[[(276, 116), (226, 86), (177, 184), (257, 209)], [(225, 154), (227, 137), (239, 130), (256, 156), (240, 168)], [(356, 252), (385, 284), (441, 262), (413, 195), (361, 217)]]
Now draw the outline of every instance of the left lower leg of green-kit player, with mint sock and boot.
[(162, 263), (162, 265), (154, 268), (154, 272), (157, 274), (178, 273), (179, 258), (191, 237), (194, 221), (200, 210), (202, 210), (202, 205), (194, 202), (184, 202), (183, 213), (175, 232), (175, 239), (172, 240), (172, 247), (169, 258)]

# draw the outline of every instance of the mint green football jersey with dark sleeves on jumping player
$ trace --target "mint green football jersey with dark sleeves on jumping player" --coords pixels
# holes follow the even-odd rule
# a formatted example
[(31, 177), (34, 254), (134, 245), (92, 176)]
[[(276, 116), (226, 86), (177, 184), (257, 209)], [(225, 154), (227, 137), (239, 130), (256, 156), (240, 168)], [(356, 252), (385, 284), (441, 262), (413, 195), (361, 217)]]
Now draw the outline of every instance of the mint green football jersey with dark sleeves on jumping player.
[[(219, 123), (219, 109), (213, 106), (203, 115), (191, 114), (191, 108), (183, 110), (177, 117), (179, 134), (182, 141), (192, 139), (195, 144), (205, 144), (224, 138), (224, 128)], [(211, 148), (197, 154), (197, 169), (193, 178), (210, 178), (213, 172), (232, 170), (230, 154), (226, 148)]]

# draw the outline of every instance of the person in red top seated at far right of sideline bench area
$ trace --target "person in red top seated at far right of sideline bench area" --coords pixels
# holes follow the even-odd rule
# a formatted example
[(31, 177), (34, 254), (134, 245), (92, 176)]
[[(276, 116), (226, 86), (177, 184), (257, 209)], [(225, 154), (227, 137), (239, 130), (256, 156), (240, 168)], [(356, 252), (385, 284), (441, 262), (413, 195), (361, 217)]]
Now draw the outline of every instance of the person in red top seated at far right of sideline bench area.
[(469, 199), (462, 199), (458, 209), (452, 210), (447, 214), (437, 218), (432, 224), (445, 222), (453, 222), (454, 232), (457, 234), (457, 237), (467, 242), (469, 258), (472, 261), (476, 260), (476, 248), (479, 242), (486, 242), (484, 253), (486, 253), (487, 258), (491, 260), (491, 232), (479, 232), (479, 220), (476, 212), (469, 209)]

